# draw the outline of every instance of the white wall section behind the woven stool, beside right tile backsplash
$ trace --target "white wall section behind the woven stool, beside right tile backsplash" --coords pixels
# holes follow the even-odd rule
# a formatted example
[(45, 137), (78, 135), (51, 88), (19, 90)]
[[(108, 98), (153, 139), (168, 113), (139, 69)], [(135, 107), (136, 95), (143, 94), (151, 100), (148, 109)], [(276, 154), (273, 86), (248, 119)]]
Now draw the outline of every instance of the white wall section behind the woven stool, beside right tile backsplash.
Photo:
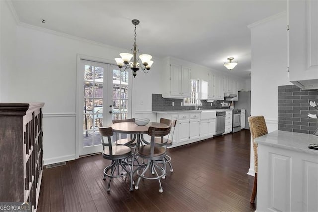
[[(278, 86), (291, 84), (287, 76), (286, 25), (286, 13), (250, 25), (251, 116), (263, 115), (268, 132), (278, 130)], [(249, 173), (254, 173), (252, 145)]]

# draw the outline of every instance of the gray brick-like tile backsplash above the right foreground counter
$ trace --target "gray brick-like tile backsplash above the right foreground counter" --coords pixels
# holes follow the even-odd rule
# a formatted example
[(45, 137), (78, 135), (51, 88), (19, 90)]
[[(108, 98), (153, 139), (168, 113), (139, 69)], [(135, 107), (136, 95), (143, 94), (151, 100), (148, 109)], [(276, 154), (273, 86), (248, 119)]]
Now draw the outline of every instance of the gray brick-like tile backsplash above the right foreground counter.
[(309, 105), (318, 103), (318, 90), (302, 90), (295, 85), (278, 86), (278, 130), (313, 134), (318, 127), (318, 119), (307, 115), (318, 110)]

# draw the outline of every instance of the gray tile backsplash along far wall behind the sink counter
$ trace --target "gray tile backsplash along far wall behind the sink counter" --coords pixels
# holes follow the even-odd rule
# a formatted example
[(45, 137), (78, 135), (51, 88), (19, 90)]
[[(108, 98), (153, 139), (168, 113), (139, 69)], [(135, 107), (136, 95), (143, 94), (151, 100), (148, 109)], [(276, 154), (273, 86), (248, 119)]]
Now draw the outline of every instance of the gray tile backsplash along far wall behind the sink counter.
[[(172, 102), (174, 102), (174, 106), (172, 106)], [(201, 109), (228, 109), (229, 107), (221, 107), (222, 102), (231, 101), (223, 101), (223, 100), (215, 100), (212, 103), (202, 100), (202, 106), (197, 106)], [(152, 111), (167, 111), (167, 110), (193, 110), (195, 106), (181, 106), (183, 103), (183, 99), (172, 99), (172, 98), (163, 98), (162, 94), (152, 94)]]

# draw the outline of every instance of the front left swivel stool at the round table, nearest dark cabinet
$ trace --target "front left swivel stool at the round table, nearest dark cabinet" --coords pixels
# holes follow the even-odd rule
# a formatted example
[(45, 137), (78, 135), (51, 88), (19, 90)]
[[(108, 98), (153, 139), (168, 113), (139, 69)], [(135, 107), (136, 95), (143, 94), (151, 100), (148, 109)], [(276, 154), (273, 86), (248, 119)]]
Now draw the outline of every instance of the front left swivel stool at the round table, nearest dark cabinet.
[[(126, 175), (130, 176), (130, 169), (127, 167), (130, 167), (130, 165), (125, 162), (125, 159), (128, 158), (132, 150), (128, 146), (118, 146), (113, 145), (111, 141), (111, 136), (113, 136), (113, 128), (112, 127), (103, 127), (103, 125), (100, 123), (98, 126), (99, 133), (102, 136), (101, 144), (103, 146), (103, 152), (102, 156), (103, 158), (107, 160), (111, 160), (111, 165), (106, 166), (104, 168), (104, 180), (106, 180), (106, 177), (109, 177), (108, 186), (107, 186), (107, 192), (110, 192), (110, 183), (113, 178), (118, 177), (124, 177)], [(107, 139), (104, 140), (104, 137)], [(125, 173), (123, 173), (120, 169), (125, 170)], [(117, 174), (116, 174), (117, 172)]]

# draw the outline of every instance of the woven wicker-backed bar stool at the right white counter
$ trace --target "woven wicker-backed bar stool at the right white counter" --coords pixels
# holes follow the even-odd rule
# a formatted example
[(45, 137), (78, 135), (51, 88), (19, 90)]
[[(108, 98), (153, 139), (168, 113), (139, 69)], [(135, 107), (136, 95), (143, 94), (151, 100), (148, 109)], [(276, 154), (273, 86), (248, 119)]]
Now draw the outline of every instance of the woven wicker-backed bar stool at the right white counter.
[(257, 194), (257, 172), (258, 172), (258, 153), (257, 153), (258, 144), (255, 143), (255, 139), (262, 135), (266, 135), (268, 132), (267, 132), (264, 116), (250, 116), (248, 117), (248, 123), (249, 123), (249, 128), (250, 128), (250, 132), (253, 139), (253, 149), (254, 149), (255, 178), (254, 178), (253, 191), (250, 197), (250, 203), (254, 203), (256, 194)]

